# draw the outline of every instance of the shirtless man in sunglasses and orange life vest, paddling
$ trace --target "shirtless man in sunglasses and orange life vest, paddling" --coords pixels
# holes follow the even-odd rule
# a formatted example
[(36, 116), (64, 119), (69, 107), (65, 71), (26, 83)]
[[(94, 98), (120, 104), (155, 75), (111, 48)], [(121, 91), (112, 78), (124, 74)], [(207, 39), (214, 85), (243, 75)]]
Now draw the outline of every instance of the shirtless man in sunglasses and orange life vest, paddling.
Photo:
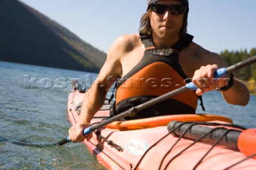
[[(195, 92), (177, 95), (150, 111), (138, 113), (135, 118), (195, 113), (197, 97), (215, 89), (229, 104), (243, 106), (249, 102), (249, 91), (232, 74), (214, 81), (215, 70), (227, 64), (186, 34), (188, 0), (148, 0), (147, 6), (141, 18), (140, 34), (123, 35), (110, 47), (98, 79), (86, 93), (78, 121), (69, 130), (71, 141), (85, 139), (83, 129), (90, 126), (117, 78), (121, 79), (117, 84), (114, 114), (177, 89), (189, 80), (198, 87)], [(159, 113), (159, 108), (163, 108), (164, 113)], [(155, 112), (150, 115), (153, 110)], [(89, 141), (91, 137), (92, 134), (87, 135), (86, 139)]]

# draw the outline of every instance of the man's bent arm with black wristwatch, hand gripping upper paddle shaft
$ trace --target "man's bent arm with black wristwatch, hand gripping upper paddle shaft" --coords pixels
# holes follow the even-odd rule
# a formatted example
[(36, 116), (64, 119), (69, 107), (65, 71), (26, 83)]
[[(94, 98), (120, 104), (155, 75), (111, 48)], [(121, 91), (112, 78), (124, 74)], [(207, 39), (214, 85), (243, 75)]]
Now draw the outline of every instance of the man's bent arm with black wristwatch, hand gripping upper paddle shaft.
[[(196, 90), (197, 95), (202, 95), (204, 92), (215, 90), (216, 88), (221, 88), (228, 84), (229, 75), (225, 75), (218, 79), (218, 81), (214, 80), (214, 72), (221, 67), (226, 67), (227, 64), (218, 54), (208, 52), (206, 50), (201, 50), (199, 55), (202, 60), (201, 64), (203, 66), (200, 69), (196, 70), (193, 76), (193, 82), (199, 87)], [(205, 63), (205, 65), (203, 64)], [(209, 84), (204, 84), (203, 79), (207, 80)], [(229, 104), (233, 105), (241, 105), (245, 106), (249, 103), (250, 100), (250, 92), (241, 81), (238, 79), (234, 79), (233, 86), (227, 91), (220, 91), (222, 93), (223, 98)]]

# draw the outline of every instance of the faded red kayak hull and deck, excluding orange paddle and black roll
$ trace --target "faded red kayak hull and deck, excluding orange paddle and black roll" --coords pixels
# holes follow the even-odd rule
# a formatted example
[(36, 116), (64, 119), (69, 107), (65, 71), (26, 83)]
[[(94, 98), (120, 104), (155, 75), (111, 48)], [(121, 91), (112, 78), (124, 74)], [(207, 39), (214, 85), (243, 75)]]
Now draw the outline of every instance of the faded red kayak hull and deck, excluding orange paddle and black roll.
[[(84, 95), (77, 90), (69, 94), (68, 115), (73, 125)], [(91, 124), (109, 117), (109, 105), (104, 107), (95, 114)], [(212, 147), (212, 143), (185, 138), (179, 140), (169, 133), (167, 124), (125, 131), (106, 126), (93, 133), (90, 142), (85, 140), (84, 143), (108, 169), (225, 169), (230, 166), (233, 166), (230, 169), (256, 169), (256, 159), (225, 146)]]

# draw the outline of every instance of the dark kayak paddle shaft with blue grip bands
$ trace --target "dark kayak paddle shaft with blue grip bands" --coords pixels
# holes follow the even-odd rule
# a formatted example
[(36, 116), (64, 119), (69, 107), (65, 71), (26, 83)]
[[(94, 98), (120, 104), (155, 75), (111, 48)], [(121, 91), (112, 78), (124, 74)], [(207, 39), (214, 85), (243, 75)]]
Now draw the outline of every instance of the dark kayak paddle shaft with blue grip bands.
[[(214, 78), (217, 78), (217, 77), (220, 77), (221, 75), (223, 74), (226, 74), (226, 73), (231, 73), (231, 72), (234, 72), (236, 70), (239, 70), (241, 69), (242, 67), (245, 67), (247, 65), (250, 65), (252, 63), (255, 63), (256, 62), (256, 56), (253, 56), (251, 58), (248, 58), (247, 60), (244, 60), (240, 63), (237, 63), (237, 64), (234, 64), (234, 65), (231, 65), (229, 67), (224, 67), (224, 68), (221, 68), (221, 69), (218, 69), (215, 74), (214, 74)], [(182, 92), (185, 92), (187, 90), (196, 90), (197, 87), (195, 86), (195, 84), (193, 82), (190, 82), (190, 83), (187, 83), (186, 86), (183, 86), (179, 89), (176, 89), (176, 90), (173, 90), (173, 91), (170, 91), (168, 92), (167, 94), (164, 94), (162, 96), (159, 96), (157, 98), (154, 98), (152, 100), (149, 100), (147, 101), (146, 103), (143, 103), (141, 105), (138, 105), (138, 106), (135, 106), (135, 107), (132, 107), (131, 109), (129, 109), (128, 111), (125, 111), (121, 114), (118, 114), (114, 117), (111, 117), (109, 118), (108, 120), (106, 121), (103, 121), (97, 125), (92, 125), (86, 129), (83, 130), (83, 135), (86, 136), (87, 134), (90, 134), (92, 133), (93, 131), (99, 129), (99, 128), (102, 128), (103, 126), (109, 124), (109, 123), (112, 123), (114, 121), (117, 121), (117, 120), (120, 120), (121, 118), (124, 118), (126, 116), (132, 116), (140, 111), (142, 111), (143, 109), (145, 108), (148, 108), (150, 106), (153, 106), (157, 103), (161, 103), (162, 101), (170, 98), (170, 97), (173, 97), (175, 95), (178, 95)], [(68, 143), (68, 142), (71, 142), (69, 137), (67, 137), (66, 139), (63, 139), (59, 142), (56, 142), (55, 145), (64, 145), (65, 143)]]

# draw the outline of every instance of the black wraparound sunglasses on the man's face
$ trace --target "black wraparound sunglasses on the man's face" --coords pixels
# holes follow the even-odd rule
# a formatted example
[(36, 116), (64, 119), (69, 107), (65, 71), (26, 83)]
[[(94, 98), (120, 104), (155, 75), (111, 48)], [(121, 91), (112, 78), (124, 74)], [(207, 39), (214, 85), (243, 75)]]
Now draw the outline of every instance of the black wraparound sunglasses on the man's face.
[(168, 6), (168, 5), (153, 3), (149, 6), (149, 8), (151, 8), (151, 10), (157, 14), (164, 14), (167, 10), (170, 10), (172, 15), (180, 15), (186, 11), (187, 6), (185, 6), (185, 5), (170, 5), (170, 6)]

